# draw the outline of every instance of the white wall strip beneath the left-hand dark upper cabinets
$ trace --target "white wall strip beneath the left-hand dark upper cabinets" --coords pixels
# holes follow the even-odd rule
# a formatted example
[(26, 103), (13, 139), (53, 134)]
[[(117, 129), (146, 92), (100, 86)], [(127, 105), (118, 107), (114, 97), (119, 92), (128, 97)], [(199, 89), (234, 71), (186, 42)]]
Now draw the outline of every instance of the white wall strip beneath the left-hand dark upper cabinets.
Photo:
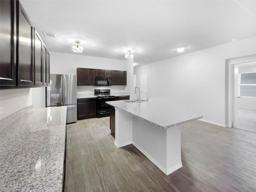
[(31, 88), (0, 90), (0, 107), (3, 119), (27, 106), (32, 105)]

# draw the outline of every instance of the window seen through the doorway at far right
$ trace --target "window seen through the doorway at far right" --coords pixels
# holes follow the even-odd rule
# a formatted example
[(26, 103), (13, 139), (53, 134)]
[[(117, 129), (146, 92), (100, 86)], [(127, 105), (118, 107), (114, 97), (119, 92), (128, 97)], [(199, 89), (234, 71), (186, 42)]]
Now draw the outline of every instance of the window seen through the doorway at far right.
[(242, 73), (240, 96), (256, 97), (256, 73)]

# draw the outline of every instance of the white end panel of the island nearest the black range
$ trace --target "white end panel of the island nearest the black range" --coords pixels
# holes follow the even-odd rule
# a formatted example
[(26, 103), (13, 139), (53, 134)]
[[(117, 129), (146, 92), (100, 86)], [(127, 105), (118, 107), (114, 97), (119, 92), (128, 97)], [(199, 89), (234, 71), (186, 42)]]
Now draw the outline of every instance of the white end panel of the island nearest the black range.
[(132, 115), (115, 108), (115, 145), (117, 148), (132, 144)]

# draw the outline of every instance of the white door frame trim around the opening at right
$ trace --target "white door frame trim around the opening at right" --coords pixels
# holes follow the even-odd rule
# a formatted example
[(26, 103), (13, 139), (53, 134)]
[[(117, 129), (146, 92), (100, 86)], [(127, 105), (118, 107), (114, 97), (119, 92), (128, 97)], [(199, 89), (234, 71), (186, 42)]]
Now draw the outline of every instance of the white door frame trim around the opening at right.
[(226, 59), (225, 66), (225, 125), (232, 127), (234, 118), (234, 66), (240, 63), (255, 62), (256, 55)]

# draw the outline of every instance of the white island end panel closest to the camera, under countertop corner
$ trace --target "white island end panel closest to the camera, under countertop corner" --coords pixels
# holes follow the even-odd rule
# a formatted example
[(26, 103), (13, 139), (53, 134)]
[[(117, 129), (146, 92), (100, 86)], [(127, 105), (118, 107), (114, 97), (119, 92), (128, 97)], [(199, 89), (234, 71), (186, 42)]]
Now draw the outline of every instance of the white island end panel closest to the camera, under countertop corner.
[(181, 162), (181, 127), (174, 126), (166, 129), (167, 139), (167, 174), (170, 174), (182, 167)]

